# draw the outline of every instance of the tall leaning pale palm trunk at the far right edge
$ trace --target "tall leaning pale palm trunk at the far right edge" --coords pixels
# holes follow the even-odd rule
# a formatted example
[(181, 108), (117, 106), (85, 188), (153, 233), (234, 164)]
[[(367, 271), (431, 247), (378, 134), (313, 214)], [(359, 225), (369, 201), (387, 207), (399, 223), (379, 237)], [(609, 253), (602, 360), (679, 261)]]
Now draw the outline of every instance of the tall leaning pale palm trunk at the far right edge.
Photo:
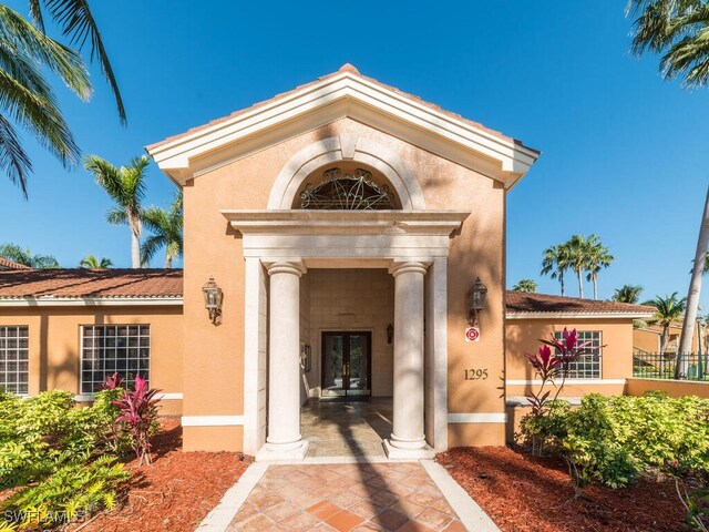
[(687, 370), (689, 369), (689, 360), (685, 355), (691, 351), (691, 337), (695, 334), (695, 321), (697, 320), (699, 295), (701, 294), (701, 276), (703, 275), (707, 247), (709, 247), (709, 188), (707, 188), (705, 212), (699, 227), (699, 238), (697, 239), (695, 267), (691, 272), (689, 293), (687, 294), (687, 311), (685, 313), (682, 334), (680, 336), (679, 348), (677, 349), (677, 366), (675, 367), (676, 379), (687, 377)]

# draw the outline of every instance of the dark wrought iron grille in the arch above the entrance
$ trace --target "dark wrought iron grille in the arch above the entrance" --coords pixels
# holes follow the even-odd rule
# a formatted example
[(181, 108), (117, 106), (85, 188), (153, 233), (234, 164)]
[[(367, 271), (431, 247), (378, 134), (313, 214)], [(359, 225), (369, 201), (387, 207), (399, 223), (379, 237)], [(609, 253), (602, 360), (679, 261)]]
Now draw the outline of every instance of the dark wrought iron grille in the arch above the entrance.
[(387, 185), (378, 185), (372, 174), (357, 168), (352, 174), (343, 174), (340, 168), (331, 168), (322, 174), (323, 180), (316, 186), (308, 183), (300, 194), (300, 208), (340, 211), (393, 209), (394, 196)]

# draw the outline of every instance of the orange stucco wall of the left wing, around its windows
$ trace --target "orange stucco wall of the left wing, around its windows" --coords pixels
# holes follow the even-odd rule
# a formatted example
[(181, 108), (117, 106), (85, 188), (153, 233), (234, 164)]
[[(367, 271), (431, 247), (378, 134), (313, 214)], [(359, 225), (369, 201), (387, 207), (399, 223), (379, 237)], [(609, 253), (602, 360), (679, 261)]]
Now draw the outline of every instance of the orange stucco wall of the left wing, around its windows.
[[(80, 393), (80, 326), (151, 326), (151, 386), (183, 391), (182, 308), (166, 307), (0, 307), (0, 325), (29, 327), (29, 390)], [(162, 401), (162, 415), (179, 415), (182, 400)]]

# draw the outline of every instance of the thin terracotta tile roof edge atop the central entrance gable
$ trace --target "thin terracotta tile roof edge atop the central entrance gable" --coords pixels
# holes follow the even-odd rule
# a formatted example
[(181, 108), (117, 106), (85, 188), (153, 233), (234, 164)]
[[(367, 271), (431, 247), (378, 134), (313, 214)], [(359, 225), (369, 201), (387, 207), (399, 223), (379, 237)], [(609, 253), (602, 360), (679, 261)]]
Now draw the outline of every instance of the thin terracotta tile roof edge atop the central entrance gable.
[(289, 96), (289, 95), (291, 95), (291, 94), (294, 94), (294, 93), (296, 93), (298, 91), (301, 91), (304, 89), (308, 89), (309, 86), (312, 86), (316, 83), (320, 83), (322, 81), (329, 80), (330, 78), (335, 78), (336, 75), (338, 75), (338, 74), (340, 74), (342, 72), (352, 73), (352, 74), (354, 74), (354, 75), (357, 75), (357, 76), (359, 76), (359, 78), (361, 78), (363, 80), (369, 81), (370, 83), (374, 83), (376, 85), (381, 86), (382, 89), (387, 89), (389, 91), (395, 92), (400, 96), (407, 98), (408, 100), (411, 100), (411, 101), (413, 101), (413, 102), (415, 102), (415, 103), (418, 103), (420, 105), (425, 105), (429, 109), (432, 109), (434, 111), (443, 113), (443, 114), (445, 114), (448, 116), (451, 116), (451, 117), (453, 117), (455, 120), (460, 120), (461, 122), (465, 122), (465, 123), (467, 123), (467, 124), (470, 124), (470, 125), (472, 125), (474, 127), (481, 129), (481, 130), (483, 130), (483, 131), (485, 131), (485, 132), (487, 132), (487, 133), (490, 133), (492, 135), (495, 135), (495, 136), (497, 136), (500, 139), (503, 139), (503, 140), (508, 141), (508, 142), (513, 142), (515, 144), (518, 144), (521, 146), (526, 147), (527, 150), (532, 150), (535, 153), (542, 153), (538, 150), (534, 150), (533, 147), (525, 146), (522, 141), (518, 141), (518, 140), (513, 139), (511, 136), (504, 135), (499, 131), (491, 130), (490, 127), (485, 127), (483, 124), (481, 124), (479, 122), (474, 122), (472, 120), (467, 120), (467, 119), (461, 116), (458, 113), (453, 113), (451, 111), (446, 111), (446, 110), (442, 109), (441, 106), (439, 106), (439, 105), (436, 105), (434, 103), (427, 102), (425, 100), (421, 99), (420, 96), (417, 96), (414, 94), (401, 91), (401, 90), (397, 89), (395, 86), (387, 85), (386, 83), (382, 83), (382, 82), (380, 82), (380, 81), (378, 81), (378, 80), (376, 80), (373, 78), (369, 78), (367, 75), (362, 75), (359, 72), (359, 70), (357, 70), (350, 63), (345, 63), (342, 66), (340, 66), (340, 69), (337, 72), (332, 72), (331, 74), (327, 74), (327, 75), (320, 76), (316, 81), (311, 81), (311, 82), (306, 83), (304, 85), (298, 85), (297, 88), (295, 88), (295, 89), (292, 89), (290, 91), (281, 92), (280, 94), (276, 94), (274, 98), (271, 98), (269, 100), (264, 100), (264, 101), (255, 103), (255, 104), (253, 104), (253, 105), (250, 105), (250, 106), (248, 106), (246, 109), (242, 109), (239, 111), (235, 111), (234, 113), (232, 113), (232, 114), (229, 114), (227, 116), (223, 116), (220, 119), (212, 120), (212, 121), (207, 122), (206, 124), (198, 125), (196, 127), (191, 127), (186, 132), (181, 133), (178, 135), (168, 136), (164, 141), (160, 141), (160, 142), (156, 142), (154, 144), (151, 144), (151, 145), (146, 146), (145, 150), (147, 150), (150, 152), (151, 150), (153, 150), (155, 147), (158, 147), (158, 146), (162, 146), (163, 144), (168, 144), (171, 142), (177, 141), (177, 140), (183, 139), (185, 136), (189, 136), (189, 135), (192, 135), (194, 133), (198, 133), (199, 131), (203, 131), (203, 130), (206, 130), (208, 127), (212, 127), (213, 125), (217, 125), (217, 124), (220, 124), (220, 123), (226, 122), (228, 120), (235, 119), (236, 116), (238, 116), (240, 114), (244, 114), (244, 113), (246, 113), (248, 111), (254, 111), (254, 110), (256, 110), (258, 108), (261, 108), (264, 105), (267, 105), (269, 103), (274, 103), (274, 102), (277, 102), (278, 100), (282, 100), (284, 98)]

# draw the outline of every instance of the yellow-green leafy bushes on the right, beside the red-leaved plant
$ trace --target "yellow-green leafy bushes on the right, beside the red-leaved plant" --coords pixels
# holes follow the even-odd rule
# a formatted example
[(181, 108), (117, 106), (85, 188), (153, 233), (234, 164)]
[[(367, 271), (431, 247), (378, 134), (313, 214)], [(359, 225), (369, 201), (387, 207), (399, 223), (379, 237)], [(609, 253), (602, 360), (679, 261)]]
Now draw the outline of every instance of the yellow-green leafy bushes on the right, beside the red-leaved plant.
[(522, 424), (527, 441), (541, 438), (564, 456), (579, 485), (619, 488), (651, 471), (709, 475), (706, 399), (589, 395), (579, 408), (551, 408)]

